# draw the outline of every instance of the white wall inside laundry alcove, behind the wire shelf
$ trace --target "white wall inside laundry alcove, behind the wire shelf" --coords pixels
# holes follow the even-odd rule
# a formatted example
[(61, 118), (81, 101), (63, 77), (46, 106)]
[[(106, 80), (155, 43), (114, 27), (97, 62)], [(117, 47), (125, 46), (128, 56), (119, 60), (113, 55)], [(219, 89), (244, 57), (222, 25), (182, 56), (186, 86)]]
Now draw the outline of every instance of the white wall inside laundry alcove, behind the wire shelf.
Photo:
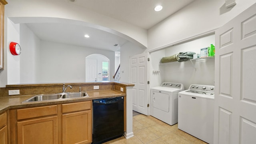
[[(215, 35), (150, 53), (150, 87), (160, 86), (162, 82), (181, 83), (185, 89), (188, 89), (190, 84), (214, 85), (214, 58), (159, 65), (162, 57), (186, 51), (200, 54), (200, 49), (207, 48), (210, 44), (215, 44)], [(160, 73), (153, 73), (153, 70)]]

